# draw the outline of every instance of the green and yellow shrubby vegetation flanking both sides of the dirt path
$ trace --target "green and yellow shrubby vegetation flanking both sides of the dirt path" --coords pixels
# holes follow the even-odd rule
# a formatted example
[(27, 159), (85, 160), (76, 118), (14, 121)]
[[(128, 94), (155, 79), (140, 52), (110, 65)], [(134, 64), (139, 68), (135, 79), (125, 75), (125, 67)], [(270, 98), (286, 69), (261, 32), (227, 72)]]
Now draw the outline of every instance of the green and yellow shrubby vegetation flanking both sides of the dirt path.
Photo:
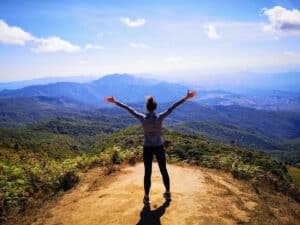
[[(142, 159), (140, 127), (106, 133), (105, 124), (103, 130), (88, 123), (78, 127), (73, 120), (67, 123), (74, 125), (70, 127), (54, 124), (48, 121), (34, 130), (0, 129), (0, 221), (71, 188), (88, 168), (105, 166), (110, 173), (113, 164), (134, 164)], [(235, 178), (249, 180), (258, 192), (267, 184), (299, 201), (299, 191), (292, 182), (298, 175), (291, 177), (278, 160), (169, 129), (164, 129), (164, 138), (169, 162), (225, 170)]]

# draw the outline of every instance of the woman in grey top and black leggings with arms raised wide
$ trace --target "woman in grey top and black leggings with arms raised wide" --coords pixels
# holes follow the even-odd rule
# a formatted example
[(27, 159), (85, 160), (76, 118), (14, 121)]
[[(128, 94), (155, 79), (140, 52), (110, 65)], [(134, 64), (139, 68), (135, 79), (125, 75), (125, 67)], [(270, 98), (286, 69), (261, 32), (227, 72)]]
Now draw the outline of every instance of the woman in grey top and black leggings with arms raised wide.
[(105, 97), (104, 100), (107, 102), (111, 102), (120, 106), (128, 112), (130, 112), (134, 117), (136, 117), (143, 126), (144, 130), (144, 149), (143, 149), (143, 160), (145, 166), (145, 176), (144, 176), (144, 190), (145, 196), (143, 202), (145, 204), (149, 204), (149, 192), (151, 186), (151, 173), (152, 173), (152, 160), (153, 155), (156, 156), (159, 169), (161, 175), (163, 177), (163, 182), (166, 188), (166, 192), (163, 194), (163, 197), (167, 201), (171, 201), (171, 193), (170, 193), (170, 180), (169, 175), (166, 167), (166, 155), (165, 149), (163, 145), (162, 139), (162, 121), (170, 115), (170, 113), (180, 104), (184, 103), (190, 98), (193, 98), (196, 95), (195, 91), (188, 91), (186, 96), (179, 100), (178, 102), (174, 103), (169, 109), (166, 111), (156, 115), (155, 110), (157, 108), (157, 103), (154, 101), (153, 97), (148, 96), (146, 108), (148, 113), (146, 115), (139, 113), (132, 109), (131, 107), (118, 102), (114, 97)]

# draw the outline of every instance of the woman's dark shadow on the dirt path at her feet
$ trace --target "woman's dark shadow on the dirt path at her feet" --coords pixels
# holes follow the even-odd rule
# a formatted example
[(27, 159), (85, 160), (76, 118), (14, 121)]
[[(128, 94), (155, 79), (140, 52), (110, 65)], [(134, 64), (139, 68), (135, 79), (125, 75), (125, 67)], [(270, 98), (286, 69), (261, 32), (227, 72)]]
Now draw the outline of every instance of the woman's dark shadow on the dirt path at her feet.
[(160, 207), (151, 210), (150, 204), (145, 204), (141, 213), (140, 220), (136, 225), (161, 225), (160, 217), (164, 215), (166, 208), (170, 205), (170, 201), (165, 201)]

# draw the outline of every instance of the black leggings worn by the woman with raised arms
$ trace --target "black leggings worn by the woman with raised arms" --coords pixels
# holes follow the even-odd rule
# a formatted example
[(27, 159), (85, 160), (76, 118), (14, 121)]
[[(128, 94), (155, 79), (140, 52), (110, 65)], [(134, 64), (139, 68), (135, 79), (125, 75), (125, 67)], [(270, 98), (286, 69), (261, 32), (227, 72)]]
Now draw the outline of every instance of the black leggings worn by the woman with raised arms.
[(166, 153), (163, 145), (161, 146), (144, 146), (143, 160), (145, 166), (145, 176), (144, 176), (144, 189), (145, 194), (148, 195), (151, 187), (151, 173), (152, 173), (152, 160), (153, 155), (156, 156), (160, 173), (163, 177), (163, 182), (166, 191), (170, 191), (170, 180), (169, 174), (166, 167)]

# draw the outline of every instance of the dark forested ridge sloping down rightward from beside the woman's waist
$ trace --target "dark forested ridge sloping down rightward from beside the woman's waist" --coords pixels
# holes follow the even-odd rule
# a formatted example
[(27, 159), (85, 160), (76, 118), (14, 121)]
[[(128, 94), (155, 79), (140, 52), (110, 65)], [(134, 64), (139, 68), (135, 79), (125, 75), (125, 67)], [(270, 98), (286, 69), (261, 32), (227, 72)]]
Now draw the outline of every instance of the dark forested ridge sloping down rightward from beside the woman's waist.
[(250, 128), (213, 121), (172, 123), (168, 127), (184, 133), (204, 136), (211, 141), (260, 150), (269, 156), (300, 165), (299, 139), (276, 141)]

